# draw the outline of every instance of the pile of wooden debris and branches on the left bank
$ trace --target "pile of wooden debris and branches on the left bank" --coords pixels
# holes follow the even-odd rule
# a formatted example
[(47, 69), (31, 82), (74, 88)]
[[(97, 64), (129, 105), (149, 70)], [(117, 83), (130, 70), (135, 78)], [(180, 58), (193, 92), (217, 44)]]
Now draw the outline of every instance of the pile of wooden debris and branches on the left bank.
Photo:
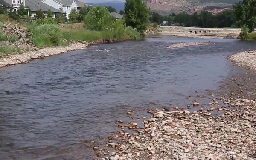
[(10, 25), (11, 23), (3, 26), (2, 30), (4, 33), (6, 33), (6, 35), (16, 35), (18, 37), (16, 44), (30, 44), (29, 38), (32, 38), (33, 33), (29, 31), (24, 31), (20, 28), (20, 26), (17, 26), (18, 24), (12, 26)]

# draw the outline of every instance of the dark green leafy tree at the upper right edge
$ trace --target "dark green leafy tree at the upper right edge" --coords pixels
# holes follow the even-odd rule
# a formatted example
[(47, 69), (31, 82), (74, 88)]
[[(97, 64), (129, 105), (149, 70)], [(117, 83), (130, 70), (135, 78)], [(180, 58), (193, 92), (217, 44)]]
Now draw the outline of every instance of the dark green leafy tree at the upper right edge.
[(243, 0), (234, 5), (236, 18), (239, 25), (247, 25), (249, 32), (253, 32), (256, 28), (256, 0)]

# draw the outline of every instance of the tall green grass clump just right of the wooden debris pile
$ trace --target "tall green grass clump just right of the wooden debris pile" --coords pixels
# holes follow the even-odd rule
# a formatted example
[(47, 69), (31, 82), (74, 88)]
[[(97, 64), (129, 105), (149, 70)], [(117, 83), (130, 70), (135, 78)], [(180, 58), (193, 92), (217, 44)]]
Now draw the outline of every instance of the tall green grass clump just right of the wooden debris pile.
[(31, 41), (36, 47), (65, 45), (63, 32), (58, 25), (33, 23), (29, 30), (33, 33)]

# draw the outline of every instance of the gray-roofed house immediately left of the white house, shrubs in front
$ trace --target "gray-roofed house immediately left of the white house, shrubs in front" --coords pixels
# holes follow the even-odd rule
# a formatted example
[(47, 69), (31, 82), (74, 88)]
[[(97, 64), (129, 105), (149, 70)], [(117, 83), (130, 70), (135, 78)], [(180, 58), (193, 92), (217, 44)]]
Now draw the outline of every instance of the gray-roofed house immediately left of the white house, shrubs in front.
[(52, 6), (49, 6), (42, 2), (42, 0), (26, 0), (27, 6), (30, 8), (31, 17), (34, 18), (36, 15), (36, 11), (41, 10), (46, 15), (46, 12), (50, 9), (53, 13), (53, 18), (57, 13), (63, 13), (63, 11), (59, 9), (55, 9)]

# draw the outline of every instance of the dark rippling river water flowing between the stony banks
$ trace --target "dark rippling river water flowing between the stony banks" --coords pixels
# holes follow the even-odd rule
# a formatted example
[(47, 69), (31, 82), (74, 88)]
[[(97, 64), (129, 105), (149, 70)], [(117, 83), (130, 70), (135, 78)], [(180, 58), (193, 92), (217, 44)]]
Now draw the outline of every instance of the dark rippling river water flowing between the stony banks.
[[(180, 42), (216, 44), (165, 49)], [(157, 104), (215, 90), (241, 72), (226, 59), (253, 42), (153, 37), (103, 44), (0, 69), (0, 160), (88, 160), (127, 110), (145, 116)]]

